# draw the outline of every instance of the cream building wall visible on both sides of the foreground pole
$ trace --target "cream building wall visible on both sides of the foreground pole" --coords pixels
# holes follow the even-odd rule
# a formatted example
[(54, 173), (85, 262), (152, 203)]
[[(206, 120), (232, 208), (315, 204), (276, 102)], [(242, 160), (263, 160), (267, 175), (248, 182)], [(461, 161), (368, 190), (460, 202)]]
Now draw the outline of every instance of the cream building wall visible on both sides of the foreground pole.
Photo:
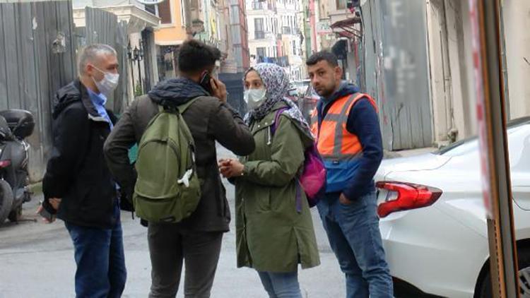
[[(469, 3), (429, 0), (430, 88), (435, 143), (475, 136), (476, 93)], [(504, 1), (508, 117), (530, 116), (530, 1)], [(447, 59), (446, 59), (447, 58)], [(454, 139), (450, 133), (456, 133)], [(449, 133), (449, 135), (448, 135)]]

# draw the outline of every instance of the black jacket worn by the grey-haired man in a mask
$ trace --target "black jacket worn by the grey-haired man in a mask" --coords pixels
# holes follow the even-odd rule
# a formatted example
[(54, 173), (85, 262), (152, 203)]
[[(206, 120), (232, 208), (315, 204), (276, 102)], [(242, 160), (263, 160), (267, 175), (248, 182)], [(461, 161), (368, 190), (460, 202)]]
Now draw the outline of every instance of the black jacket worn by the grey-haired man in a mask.
[[(76, 80), (57, 92), (52, 114), (53, 150), (42, 180), (45, 208), (62, 198), (57, 217), (86, 227), (110, 228), (116, 186), (103, 157), (110, 125), (93, 106), (86, 87)], [(111, 121), (115, 120), (109, 113)]]

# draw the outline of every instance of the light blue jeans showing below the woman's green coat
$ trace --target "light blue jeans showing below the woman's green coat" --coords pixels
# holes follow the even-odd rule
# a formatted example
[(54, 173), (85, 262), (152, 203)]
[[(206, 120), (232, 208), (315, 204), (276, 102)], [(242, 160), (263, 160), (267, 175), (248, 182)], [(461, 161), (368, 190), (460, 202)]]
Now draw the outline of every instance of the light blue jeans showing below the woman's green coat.
[(260, 272), (261, 284), (271, 298), (302, 298), (298, 271), (288, 273)]

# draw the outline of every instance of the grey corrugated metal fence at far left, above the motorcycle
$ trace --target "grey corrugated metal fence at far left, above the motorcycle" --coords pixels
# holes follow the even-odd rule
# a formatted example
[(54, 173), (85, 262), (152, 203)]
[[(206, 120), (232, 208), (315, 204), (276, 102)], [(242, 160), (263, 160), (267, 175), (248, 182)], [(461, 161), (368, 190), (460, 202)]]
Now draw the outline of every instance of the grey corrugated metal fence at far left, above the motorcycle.
[[(35, 129), (29, 174), (39, 181), (52, 153), (52, 106), (59, 88), (76, 78), (76, 42), (71, 1), (0, 3), (0, 110), (26, 109)], [(64, 47), (54, 47), (57, 32)], [(57, 51), (55, 52), (54, 51)]]

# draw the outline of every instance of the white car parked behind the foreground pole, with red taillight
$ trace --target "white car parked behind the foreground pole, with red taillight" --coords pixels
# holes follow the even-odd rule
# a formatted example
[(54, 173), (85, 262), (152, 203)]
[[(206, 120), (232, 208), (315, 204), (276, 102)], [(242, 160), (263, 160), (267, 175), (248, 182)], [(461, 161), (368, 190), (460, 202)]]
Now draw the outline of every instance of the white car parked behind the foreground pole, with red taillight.
[[(530, 266), (530, 117), (507, 135), (521, 269)], [(378, 213), (396, 297), (491, 297), (480, 173), (476, 138), (382, 162)]]

